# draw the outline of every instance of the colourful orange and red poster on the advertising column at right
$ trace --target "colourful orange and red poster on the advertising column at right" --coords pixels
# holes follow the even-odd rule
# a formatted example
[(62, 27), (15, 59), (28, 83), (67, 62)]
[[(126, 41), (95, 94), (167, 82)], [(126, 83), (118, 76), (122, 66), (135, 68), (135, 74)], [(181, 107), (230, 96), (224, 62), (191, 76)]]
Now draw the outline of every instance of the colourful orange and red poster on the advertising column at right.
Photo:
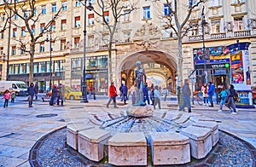
[(230, 55), (232, 78), (231, 83), (244, 83), (244, 71), (242, 62), (242, 52), (237, 51)]

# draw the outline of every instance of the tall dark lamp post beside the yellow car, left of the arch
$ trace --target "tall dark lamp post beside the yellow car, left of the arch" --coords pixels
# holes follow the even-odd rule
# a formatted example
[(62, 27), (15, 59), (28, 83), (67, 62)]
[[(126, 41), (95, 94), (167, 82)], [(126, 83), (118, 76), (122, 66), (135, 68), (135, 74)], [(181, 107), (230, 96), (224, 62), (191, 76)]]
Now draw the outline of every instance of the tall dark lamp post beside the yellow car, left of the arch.
[(87, 0), (84, 0), (84, 69), (83, 69), (83, 82), (82, 82), (82, 100), (81, 102), (89, 102), (87, 99), (87, 83), (86, 83), (86, 71), (85, 71), (85, 51), (86, 51), (86, 9), (93, 10), (93, 7), (91, 6), (91, 3), (89, 2), (89, 5), (86, 6)]

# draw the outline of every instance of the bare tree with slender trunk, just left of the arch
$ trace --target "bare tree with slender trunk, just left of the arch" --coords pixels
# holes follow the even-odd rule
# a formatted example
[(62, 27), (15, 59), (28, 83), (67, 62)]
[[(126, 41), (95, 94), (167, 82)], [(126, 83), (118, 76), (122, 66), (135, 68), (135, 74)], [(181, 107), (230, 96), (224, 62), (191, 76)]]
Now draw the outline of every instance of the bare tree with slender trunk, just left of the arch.
[[(119, 20), (125, 14), (131, 14), (134, 11), (135, 5), (131, 4), (130, 1), (124, 0), (96, 0), (97, 7), (94, 12), (102, 18), (103, 25), (108, 31), (108, 78), (113, 81), (112, 73), (112, 51), (113, 51), (113, 36), (117, 31)], [(103, 36), (104, 34), (102, 34)], [(106, 35), (106, 33), (105, 33)]]

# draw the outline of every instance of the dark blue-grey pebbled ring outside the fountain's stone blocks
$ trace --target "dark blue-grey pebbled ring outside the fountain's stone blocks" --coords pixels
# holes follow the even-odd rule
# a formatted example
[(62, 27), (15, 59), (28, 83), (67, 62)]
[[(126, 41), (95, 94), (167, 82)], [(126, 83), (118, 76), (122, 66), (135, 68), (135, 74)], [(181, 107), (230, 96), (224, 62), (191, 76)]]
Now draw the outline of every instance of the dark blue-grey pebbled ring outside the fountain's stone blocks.
[[(55, 130), (39, 140), (30, 153), (32, 166), (113, 166), (104, 163), (95, 163), (84, 158), (79, 153), (67, 147), (67, 128)], [(207, 158), (193, 159), (189, 164), (166, 166), (253, 166), (256, 150), (246, 141), (241, 141), (236, 136), (219, 131), (218, 144), (212, 148)], [(106, 161), (105, 159), (105, 162)], [(148, 165), (153, 166), (153, 165)]]

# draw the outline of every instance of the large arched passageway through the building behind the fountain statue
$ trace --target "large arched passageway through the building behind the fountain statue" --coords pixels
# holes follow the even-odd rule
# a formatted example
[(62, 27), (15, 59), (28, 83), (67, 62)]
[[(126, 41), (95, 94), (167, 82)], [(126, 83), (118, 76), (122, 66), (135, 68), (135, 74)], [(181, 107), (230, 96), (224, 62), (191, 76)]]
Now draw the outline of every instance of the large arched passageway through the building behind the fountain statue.
[(148, 86), (151, 83), (175, 93), (177, 63), (173, 55), (159, 50), (144, 50), (127, 55), (120, 65), (121, 81), (130, 88), (135, 83), (136, 62), (141, 61), (145, 69)]

